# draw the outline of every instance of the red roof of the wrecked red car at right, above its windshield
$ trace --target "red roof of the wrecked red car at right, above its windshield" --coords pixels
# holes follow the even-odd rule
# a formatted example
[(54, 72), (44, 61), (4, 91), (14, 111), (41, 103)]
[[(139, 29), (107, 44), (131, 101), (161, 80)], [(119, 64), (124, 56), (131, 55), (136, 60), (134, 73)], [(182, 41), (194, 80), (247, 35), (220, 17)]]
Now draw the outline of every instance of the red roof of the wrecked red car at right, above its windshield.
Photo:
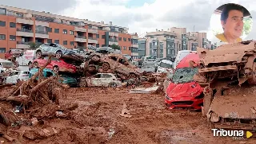
[(190, 53), (186, 55), (178, 64), (176, 68), (186, 68), (190, 67), (190, 60), (194, 60), (194, 62), (199, 61), (199, 55), (197, 53)]

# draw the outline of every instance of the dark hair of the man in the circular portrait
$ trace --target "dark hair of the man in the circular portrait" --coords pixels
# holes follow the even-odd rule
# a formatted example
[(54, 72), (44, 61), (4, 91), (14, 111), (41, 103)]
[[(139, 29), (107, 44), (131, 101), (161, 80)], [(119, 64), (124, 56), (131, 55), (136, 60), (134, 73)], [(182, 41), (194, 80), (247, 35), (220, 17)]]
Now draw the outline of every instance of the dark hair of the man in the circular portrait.
[(226, 19), (229, 17), (230, 10), (239, 10), (242, 12), (242, 14), (244, 14), (244, 8), (242, 6), (234, 3), (229, 3), (226, 4), (224, 9), (222, 10), (221, 21), (226, 22)]

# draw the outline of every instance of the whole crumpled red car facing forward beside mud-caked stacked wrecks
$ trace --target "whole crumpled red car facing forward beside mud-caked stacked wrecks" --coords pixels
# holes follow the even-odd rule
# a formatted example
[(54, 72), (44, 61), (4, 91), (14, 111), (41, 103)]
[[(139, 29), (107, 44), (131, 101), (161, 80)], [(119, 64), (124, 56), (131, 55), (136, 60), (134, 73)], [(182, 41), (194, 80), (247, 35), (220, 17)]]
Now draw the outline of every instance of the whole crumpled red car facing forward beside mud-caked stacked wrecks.
[(190, 60), (197, 63), (198, 54), (190, 53), (180, 61), (166, 88), (165, 103), (169, 109), (201, 110), (203, 106), (203, 88), (193, 79), (198, 68), (190, 67)]

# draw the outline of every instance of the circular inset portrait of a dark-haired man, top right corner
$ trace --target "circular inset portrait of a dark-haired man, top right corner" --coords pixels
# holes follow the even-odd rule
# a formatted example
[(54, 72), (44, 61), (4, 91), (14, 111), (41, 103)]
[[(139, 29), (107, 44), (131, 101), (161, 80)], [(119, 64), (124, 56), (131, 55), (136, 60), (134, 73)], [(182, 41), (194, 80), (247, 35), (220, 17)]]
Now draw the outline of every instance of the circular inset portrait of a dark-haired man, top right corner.
[(210, 29), (218, 41), (224, 43), (243, 41), (250, 33), (252, 25), (250, 12), (234, 3), (219, 6), (210, 18)]

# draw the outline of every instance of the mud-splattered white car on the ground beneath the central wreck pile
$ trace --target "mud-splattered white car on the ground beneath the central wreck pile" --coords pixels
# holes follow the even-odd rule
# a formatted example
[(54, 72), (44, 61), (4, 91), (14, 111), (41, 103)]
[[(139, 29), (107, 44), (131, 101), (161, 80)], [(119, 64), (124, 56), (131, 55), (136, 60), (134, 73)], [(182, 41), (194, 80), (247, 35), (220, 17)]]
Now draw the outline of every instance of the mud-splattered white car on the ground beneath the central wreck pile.
[(82, 78), (79, 83), (81, 88), (86, 87), (120, 87), (122, 82), (113, 73), (98, 73), (92, 77)]

